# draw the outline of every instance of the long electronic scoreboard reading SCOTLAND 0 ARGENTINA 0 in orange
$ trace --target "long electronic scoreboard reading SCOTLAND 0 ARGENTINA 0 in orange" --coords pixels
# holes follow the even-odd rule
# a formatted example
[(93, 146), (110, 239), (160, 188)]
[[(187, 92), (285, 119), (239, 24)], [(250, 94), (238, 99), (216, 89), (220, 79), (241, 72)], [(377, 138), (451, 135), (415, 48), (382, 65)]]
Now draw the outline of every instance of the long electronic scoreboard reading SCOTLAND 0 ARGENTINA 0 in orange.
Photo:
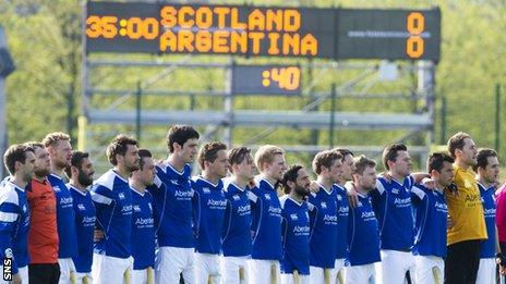
[(86, 52), (439, 60), (441, 12), (87, 2)]

